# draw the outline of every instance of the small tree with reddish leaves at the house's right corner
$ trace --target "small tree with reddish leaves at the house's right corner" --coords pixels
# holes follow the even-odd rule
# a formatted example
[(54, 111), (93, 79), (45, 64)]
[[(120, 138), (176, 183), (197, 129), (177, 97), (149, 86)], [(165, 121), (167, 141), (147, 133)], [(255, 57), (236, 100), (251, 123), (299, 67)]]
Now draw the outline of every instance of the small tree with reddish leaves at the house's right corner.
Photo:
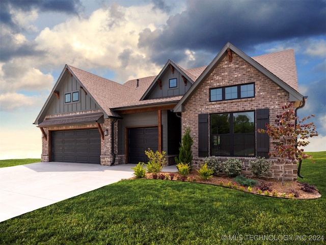
[(277, 157), (279, 162), (283, 162), (282, 185), (284, 185), (286, 161), (311, 158), (311, 155), (304, 153), (302, 147), (310, 143), (308, 138), (317, 136), (318, 133), (313, 122), (305, 123), (314, 115), (300, 120), (295, 116), (291, 103), (282, 106), (282, 109), (284, 112), (276, 116), (275, 125), (266, 124), (266, 129), (258, 129), (258, 132), (268, 134), (273, 140), (274, 151), (269, 155)]

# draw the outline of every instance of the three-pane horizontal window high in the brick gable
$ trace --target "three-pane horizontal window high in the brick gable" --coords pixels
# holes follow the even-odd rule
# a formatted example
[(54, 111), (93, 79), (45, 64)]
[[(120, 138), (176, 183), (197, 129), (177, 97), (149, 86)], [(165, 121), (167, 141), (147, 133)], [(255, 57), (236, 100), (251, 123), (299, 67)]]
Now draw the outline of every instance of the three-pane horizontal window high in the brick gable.
[(210, 101), (227, 101), (255, 97), (255, 84), (210, 89)]

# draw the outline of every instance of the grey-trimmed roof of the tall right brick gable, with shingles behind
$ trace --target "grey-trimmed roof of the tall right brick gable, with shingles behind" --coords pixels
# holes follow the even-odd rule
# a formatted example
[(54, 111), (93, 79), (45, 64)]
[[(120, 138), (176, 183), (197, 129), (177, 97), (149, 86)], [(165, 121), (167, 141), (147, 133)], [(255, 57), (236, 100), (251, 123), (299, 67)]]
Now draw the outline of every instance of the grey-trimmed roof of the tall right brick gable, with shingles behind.
[[(289, 92), (290, 95), (290, 101), (302, 101), (303, 95), (300, 94), (295, 88), (294, 84), (297, 84), (297, 77), (296, 77), (296, 69), (295, 69), (295, 61), (294, 61), (294, 67), (293, 67), (293, 61), (290, 62), (291, 65), (286, 66), (288, 69), (292, 69), (290, 72), (292, 75), (295, 72), (294, 78), (288, 78), (286, 79), (285, 76), (285, 70), (283, 68), (277, 68), (276, 65), (270, 65), (269, 63), (277, 62), (277, 59), (285, 58), (285, 56), (288, 56), (291, 52), (283, 52), (279, 55), (273, 55), (272, 57), (266, 57), (268, 55), (264, 55), (264, 57), (256, 57), (258, 61), (262, 61), (263, 64), (266, 66), (264, 67), (257, 61), (255, 61), (253, 58), (250, 58), (248, 55), (244, 54), (242, 51), (240, 51), (237, 47), (233, 46), (231, 43), (227, 43), (222, 50), (219, 52), (218, 55), (215, 56), (215, 58), (212, 60), (212, 62), (207, 66), (207, 68), (202, 72), (200, 77), (198, 78), (197, 82), (184, 94), (182, 99), (179, 101), (179, 103), (175, 106), (174, 111), (175, 112), (181, 112), (183, 111), (183, 105), (190, 99), (190, 97), (196, 92), (197, 88), (200, 86), (200, 84), (207, 79), (207, 77), (211, 74), (211, 72), (215, 69), (215, 67), (222, 61), (222, 59), (228, 55), (228, 48), (230, 48), (231, 52), (236, 53), (240, 58), (251, 64), (254, 68), (256, 68), (258, 71), (260, 71), (263, 75), (265, 75), (267, 78), (269, 78), (271, 81), (275, 82), (278, 86)], [(285, 55), (287, 54), (287, 55)], [(292, 53), (293, 55), (293, 53)], [(293, 55), (294, 57), (294, 55)], [(285, 59), (286, 60), (286, 59)], [(273, 62), (271, 62), (273, 61)], [(286, 61), (285, 61), (286, 62)], [(282, 62), (283, 63), (283, 62)], [(290, 82), (290, 84), (294, 85), (294, 88), (290, 86), (290, 84), (286, 83), (286, 81), (282, 81), (281, 78), (277, 77), (276, 74), (273, 74), (270, 70), (267, 69), (271, 68), (274, 72), (276, 72), (277, 75), (285, 79), (287, 82)], [(274, 67), (274, 68), (273, 68)], [(294, 71), (293, 71), (294, 68)], [(296, 81), (294, 81), (296, 80)]]

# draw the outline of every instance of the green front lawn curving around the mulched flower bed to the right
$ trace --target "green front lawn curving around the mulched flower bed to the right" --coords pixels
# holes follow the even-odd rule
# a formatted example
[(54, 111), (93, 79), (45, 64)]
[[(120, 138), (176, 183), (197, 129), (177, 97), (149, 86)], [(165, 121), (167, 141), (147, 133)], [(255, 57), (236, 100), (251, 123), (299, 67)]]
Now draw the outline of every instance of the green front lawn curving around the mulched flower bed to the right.
[(325, 244), (326, 152), (312, 154), (315, 163), (303, 162), (300, 181), (317, 185), (316, 200), (125, 180), (0, 223), (0, 243)]

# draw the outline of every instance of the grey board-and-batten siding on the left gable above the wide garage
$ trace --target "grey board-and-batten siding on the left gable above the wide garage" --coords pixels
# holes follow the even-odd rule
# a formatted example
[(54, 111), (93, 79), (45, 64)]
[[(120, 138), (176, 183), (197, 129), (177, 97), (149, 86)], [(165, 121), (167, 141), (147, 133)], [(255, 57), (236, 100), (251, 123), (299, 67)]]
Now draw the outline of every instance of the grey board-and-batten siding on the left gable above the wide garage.
[[(60, 99), (58, 99), (57, 96), (53, 96), (50, 107), (46, 113), (47, 115), (99, 109), (92, 98), (80, 89), (80, 83), (74, 77), (70, 77), (68, 74), (65, 75), (61, 86), (58, 87), (59, 91), (57, 91), (59, 92)], [(65, 94), (75, 91), (79, 92), (79, 101), (65, 103)]]

